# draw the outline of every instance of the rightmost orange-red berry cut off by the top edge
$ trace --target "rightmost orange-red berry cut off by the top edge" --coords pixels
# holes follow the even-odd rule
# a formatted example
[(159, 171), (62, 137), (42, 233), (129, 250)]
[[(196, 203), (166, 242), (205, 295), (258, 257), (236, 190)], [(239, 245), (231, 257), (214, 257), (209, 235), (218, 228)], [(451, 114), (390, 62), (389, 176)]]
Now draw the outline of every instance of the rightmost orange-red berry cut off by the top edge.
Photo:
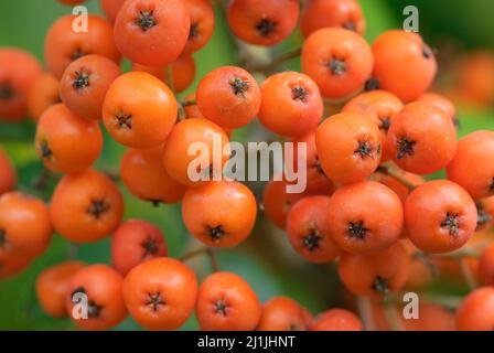
[(365, 18), (355, 0), (310, 0), (301, 15), (303, 36), (327, 26), (343, 28), (358, 34), (365, 32)]

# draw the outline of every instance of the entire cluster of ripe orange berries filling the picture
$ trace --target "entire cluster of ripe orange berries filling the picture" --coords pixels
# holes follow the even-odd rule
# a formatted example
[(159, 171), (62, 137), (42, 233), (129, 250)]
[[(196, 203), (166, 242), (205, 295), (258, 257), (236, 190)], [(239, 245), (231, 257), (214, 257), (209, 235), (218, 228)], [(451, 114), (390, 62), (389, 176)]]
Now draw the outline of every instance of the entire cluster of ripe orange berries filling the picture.
[[(37, 154), (64, 174), (47, 205), (11, 191), (15, 171), (0, 153), (0, 278), (42, 255), (52, 233), (77, 244), (111, 235), (111, 266), (67, 261), (40, 275), (37, 296), (49, 314), (104, 330), (130, 313), (147, 329), (174, 330), (195, 308), (204, 330), (362, 330), (361, 319), (343, 309), (312, 318), (284, 297), (261, 306), (232, 272), (215, 271), (198, 285), (184, 258), (167, 257), (157, 226), (122, 221), (119, 186), (92, 168), (104, 146), (103, 121), (128, 148), (119, 178), (133, 196), (181, 202), (183, 222), (205, 253), (234, 247), (255, 226), (256, 197), (237, 181), (191, 179), (190, 146), (214, 151), (219, 137), (222, 156), (211, 152), (198, 171), (221, 174), (232, 132), (258, 118), (267, 130), (307, 145), (307, 165), (298, 165), (308, 171), (305, 192), (290, 194), (288, 181), (271, 181), (262, 196), (265, 214), (300, 256), (336, 261), (345, 287), (377, 302), (405, 288), (419, 256), (482, 252), (479, 274), (491, 287), (466, 297), (457, 328), (492, 330), (494, 245), (471, 239), (494, 220), (494, 132), (457, 139), (454, 105), (428, 92), (437, 62), (419, 34), (387, 31), (369, 45), (355, 0), (312, 0), (302, 9), (299, 0), (232, 0), (229, 28), (248, 44), (273, 46), (300, 22), (301, 73), (275, 73), (259, 85), (259, 75), (223, 66), (179, 101), (195, 76), (192, 54), (213, 35), (213, 3), (101, 0), (101, 7), (107, 19), (89, 14), (87, 31), (74, 30), (74, 15), (52, 24), (44, 72), (30, 54), (0, 49), (1, 120), (31, 115)], [(122, 56), (132, 62), (128, 73)], [(322, 120), (327, 101), (342, 108)], [(422, 178), (443, 169), (445, 180)], [(75, 295), (88, 298), (85, 320), (74, 315)], [(376, 309), (374, 324), (379, 314)], [(450, 317), (423, 304), (421, 329), (434, 320), (454, 328)]]

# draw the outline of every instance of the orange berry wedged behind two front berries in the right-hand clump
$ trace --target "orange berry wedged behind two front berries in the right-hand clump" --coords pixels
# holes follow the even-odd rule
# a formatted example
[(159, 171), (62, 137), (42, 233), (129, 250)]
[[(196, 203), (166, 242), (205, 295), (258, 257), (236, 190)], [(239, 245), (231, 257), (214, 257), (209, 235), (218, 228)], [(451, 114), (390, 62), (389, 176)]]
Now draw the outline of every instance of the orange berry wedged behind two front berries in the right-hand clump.
[(382, 161), (386, 161), (390, 157), (386, 148), (386, 137), (395, 116), (402, 107), (404, 104), (394, 94), (385, 90), (370, 90), (352, 98), (344, 105), (342, 113), (365, 115), (377, 124), (383, 136)]

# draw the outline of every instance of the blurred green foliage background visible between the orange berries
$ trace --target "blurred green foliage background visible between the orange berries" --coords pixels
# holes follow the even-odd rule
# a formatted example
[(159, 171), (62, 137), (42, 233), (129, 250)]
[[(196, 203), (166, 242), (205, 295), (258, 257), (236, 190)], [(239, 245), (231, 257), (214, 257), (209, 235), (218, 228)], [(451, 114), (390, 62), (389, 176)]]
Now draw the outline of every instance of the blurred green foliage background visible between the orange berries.
[[(455, 47), (494, 47), (494, 1), (492, 0), (361, 0), (367, 20), (366, 38), (375, 36), (393, 28), (399, 28), (404, 21), (405, 6), (415, 4), (420, 11), (420, 30), (426, 40), (437, 49), (443, 43), (454, 43)], [(100, 13), (98, 1), (87, 2), (92, 13)], [(58, 17), (71, 12), (55, 0), (1, 0), (0, 46), (19, 46), (43, 58), (43, 39), (50, 24)], [(294, 33), (275, 52), (293, 50), (300, 45), (300, 35)], [(236, 64), (236, 43), (230, 38), (223, 14), (217, 11), (217, 24), (211, 43), (195, 54), (197, 75), (194, 85), (186, 92), (193, 92), (197, 81), (214, 67)], [(447, 58), (448, 61), (448, 58)], [(293, 60), (287, 67), (298, 69)], [(186, 94), (184, 93), (184, 94)], [(488, 107), (461, 107), (460, 135), (476, 129), (493, 129), (494, 114)], [(245, 140), (256, 129), (238, 131), (236, 139)], [(43, 165), (32, 146), (34, 125), (30, 121), (19, 125), (0, 124), (0, 145), (3, 146), (19, 169), (19, 189), (50, 200), (56, 183), (52, 178), (45, 188), (35, 188)], [(106, 137), (105, 151), (98, 167), (118, 172), (122, 148)], [(259, 188), (257, 185), (255, 188)], [(182, 225), (180, 206), (153, 207), (136, 201), (126, 194), (126, 218), (139, 217), (157, 224), (165, 234), (170, 255), (181, 256), (194, 243)], [(309, 265), (294, 255), (281, 231), (262, 222), (259, 215), (258, 226), (251, 237), (241, 246), (218, 252), (219, 265), (244, 276), (254, 287), (262, 301), (273, 296), (289, 296), (300, 301), (313, 313), (341, 303), (339, 281), (334, 266)], [(74, 247), (60, 236), (55, 236), (50, 250), (36, 259), (29, 270), (18, 277), (0, 281), (0, 329), (2, 330), (54, 330), (74, 329), (68, 320), (54, 320), (46, 317), (37, 304), (34, 284), (37, 274), (46, 266), (61, 263), (68, 257), (87, 263), (109, 263), (109, 240)], [(207, 259), (191, 261), (200, 277), (207, 275)], [(128, 319), (118, 329), (133, 330), (138, 325)], [(184, 329), (196, 329), (192, 318)]]

